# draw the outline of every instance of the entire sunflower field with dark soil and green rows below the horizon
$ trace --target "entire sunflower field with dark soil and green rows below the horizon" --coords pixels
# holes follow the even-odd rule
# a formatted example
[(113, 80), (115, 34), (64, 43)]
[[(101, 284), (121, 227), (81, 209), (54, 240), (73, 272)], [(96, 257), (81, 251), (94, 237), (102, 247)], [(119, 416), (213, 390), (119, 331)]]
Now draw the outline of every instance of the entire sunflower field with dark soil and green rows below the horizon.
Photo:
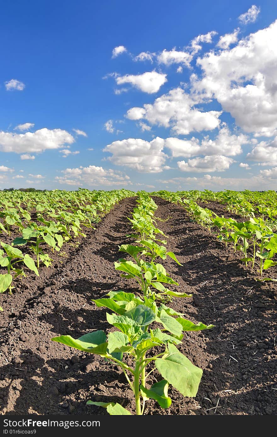
[[(277, 413), (274, 191), (150, 197), (126, 190), (15, 191), (0, 198), (1, 414), (102, 415), (106, 408), (138, 414), (141, 406), (147, 415)], [(119, 290), (124, 298), (115, 297)], [(144, 318), (154, 314), (148, 324), (136, 318), (138, 307)], [(108, 342), (89, 337), (98, 330), (109, 333)], [(87, 343), (68, 347), (65, 336), (86, 334)], [(145, 357), (156, 363), (147, 361), (146, 377), (140, 367), (142, 387), (136, 367), (128, 370), (139, 347), (140, 364)], [(186, 367), (193, 375), (187, 382), (176, 380), (180, 368), (169, 362), (176, 347), (184, 378)]]

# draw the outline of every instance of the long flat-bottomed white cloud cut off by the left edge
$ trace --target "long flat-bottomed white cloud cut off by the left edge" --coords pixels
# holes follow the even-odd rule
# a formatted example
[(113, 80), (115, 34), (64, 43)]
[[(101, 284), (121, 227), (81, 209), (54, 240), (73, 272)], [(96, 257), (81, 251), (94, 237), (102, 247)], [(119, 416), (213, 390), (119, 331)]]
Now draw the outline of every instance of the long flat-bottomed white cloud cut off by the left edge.
[[(0, 132), (1, 152), (43, 152), (46, 149), (59, 149), (65, 143), (71, 144), (73, 142), (73, 136), (62, 129), (50, 130), (43, 128), (35, 132), (26, 132), (25, 134)], [(30, 158), (21, 157), (21, 159)]]

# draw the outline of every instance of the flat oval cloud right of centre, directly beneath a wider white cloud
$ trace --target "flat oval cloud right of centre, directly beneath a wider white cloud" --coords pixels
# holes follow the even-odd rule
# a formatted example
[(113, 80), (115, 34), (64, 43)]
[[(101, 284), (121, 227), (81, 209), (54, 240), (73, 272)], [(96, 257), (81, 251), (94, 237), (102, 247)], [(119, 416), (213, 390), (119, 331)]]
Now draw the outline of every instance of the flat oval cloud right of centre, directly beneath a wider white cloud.
[(205, 156), (204, 158), (193, 158), (192, 160), (178, 161), (177, 165), (181, 171), (204, 172), (204, 171), (225, 171), (235, 161), (223, 155)]

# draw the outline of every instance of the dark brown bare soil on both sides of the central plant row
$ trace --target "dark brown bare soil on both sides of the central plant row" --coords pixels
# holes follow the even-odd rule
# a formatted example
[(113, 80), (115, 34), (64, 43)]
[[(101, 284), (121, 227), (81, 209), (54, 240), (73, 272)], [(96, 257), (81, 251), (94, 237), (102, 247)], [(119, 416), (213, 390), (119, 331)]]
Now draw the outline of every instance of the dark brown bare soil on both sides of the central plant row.
[[(194, 322), (216, 326), (185, 333), (179, 347), (203, 368), (196, 398), (170, 389), (169, 409), (148, 401), (145, 413), (276, 414), (276, 283), (255, 281), (256, 273), (239, 261), (238, 253), (226, 250), (182, 207), (154, 200), (162, 219), (158, 227), (182, 266), (169, 258), (163, 264), (179, 282), (178, 291), (193, 294), (169, 305)], [(110, 290), (134, 291), (136, 284), (121, 278), (113, 266), (120, 257), (118, 245), (128, 241), (127, 217), (134, 206), (134, 198), (121, 201), (63, 264), (44, 269), (39, 278), (28, 274), (12, 296), (0, 296), (2, 414), (106, 414), (86, 406), (88, 399), (116, 401), (134, 412), (133, 393), (115, 365), (50, 340), (60, 334), (77, 338), (92, 329), (108, 331), (105, 309), (96, 308), (91, 299)], [(148, 383), (158, 377), (153, 372)]]

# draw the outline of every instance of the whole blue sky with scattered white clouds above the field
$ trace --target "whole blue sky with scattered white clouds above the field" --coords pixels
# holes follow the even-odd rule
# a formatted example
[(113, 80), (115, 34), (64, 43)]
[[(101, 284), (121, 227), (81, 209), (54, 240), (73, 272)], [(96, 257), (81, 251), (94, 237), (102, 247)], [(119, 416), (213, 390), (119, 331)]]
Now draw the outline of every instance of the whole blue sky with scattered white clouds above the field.
[(277, 1), (2, 7), (0, 189), (275, 189)]

